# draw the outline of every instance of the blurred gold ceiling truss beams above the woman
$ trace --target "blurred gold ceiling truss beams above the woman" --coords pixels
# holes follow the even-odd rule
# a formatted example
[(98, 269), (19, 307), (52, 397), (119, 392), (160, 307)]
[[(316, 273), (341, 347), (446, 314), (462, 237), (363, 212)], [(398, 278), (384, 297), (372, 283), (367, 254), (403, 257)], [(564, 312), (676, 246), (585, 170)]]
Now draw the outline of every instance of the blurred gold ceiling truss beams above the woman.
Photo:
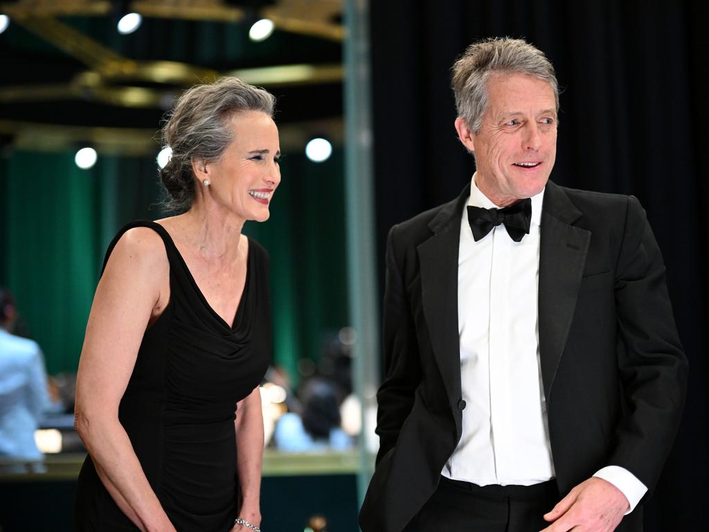
[[(18, 0), (0, 2), (0, 13), (14, 23), (48, 41), (86, 65), (68, 83), (18, 85), (0, 88), (0, 103), (26, 101), (97, 101), (133, 108), (167, 108), (176, 96), (175, 87), (189, 87), (222, 75), (233, 75), (250, 84), (267, 87), (298, 84), (341, 83), (341, 64), (281, 65), (217, 72), (208, 68), (171, 61), (138, 61), (123, 57), (88, 35), (58, 20), (62, 16), (110, 16), (108, 0)], [(177, 18), (191, 21), (238, 22), (245, 9), (223, 0), (142, 0), (128, 2), (129, 9), (146, 17)], [(342, 0), (279, 0), (260, 9), (258, 16), (270, 18), (282, 31), (335, 41), (345, 37), (337, 22)], [(157, 87), (144, 87), (149, 82)], [(133, 83), (133, 84), (131, 84)], [(160, 87), (162, 85), (163, 87)], [(341, 137), (341, 120), (318, 123), (332, 138)], [(79, 140), (103, 145), (109, 152), (148, 153), (155, 147), (155, 131), (130, 128), (67, 128), (51, 124), (0, 121), (0, 135), (13, 135), (15, 145), (30, 144), (53, 149)], [(299, 143), (297, 133), (286, 133), (288, 143)]]

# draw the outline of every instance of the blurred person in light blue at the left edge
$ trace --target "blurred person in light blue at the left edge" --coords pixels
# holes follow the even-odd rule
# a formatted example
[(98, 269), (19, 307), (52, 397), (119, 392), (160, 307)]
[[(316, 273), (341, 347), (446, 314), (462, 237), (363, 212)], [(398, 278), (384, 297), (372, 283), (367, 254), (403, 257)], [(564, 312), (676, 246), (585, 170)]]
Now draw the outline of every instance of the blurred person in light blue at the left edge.
[(43, 470), (34, 433), (50, 405), (42, 351), (11, 333), (17, 313), (0, 287), (0, 472)]

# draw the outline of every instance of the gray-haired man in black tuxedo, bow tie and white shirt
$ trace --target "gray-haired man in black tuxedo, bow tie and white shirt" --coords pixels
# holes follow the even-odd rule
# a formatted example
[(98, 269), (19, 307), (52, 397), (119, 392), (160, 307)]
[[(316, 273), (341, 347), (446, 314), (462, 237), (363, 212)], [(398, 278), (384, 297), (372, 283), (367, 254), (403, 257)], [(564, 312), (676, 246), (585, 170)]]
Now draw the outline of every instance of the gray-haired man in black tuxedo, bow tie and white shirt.
[(644, 211), (549, 181), (559, 94), (537, 48), (474, 43), (452, 84), (476, 172), (389, 233), (362, 531), (642, 531), (686, 388)]

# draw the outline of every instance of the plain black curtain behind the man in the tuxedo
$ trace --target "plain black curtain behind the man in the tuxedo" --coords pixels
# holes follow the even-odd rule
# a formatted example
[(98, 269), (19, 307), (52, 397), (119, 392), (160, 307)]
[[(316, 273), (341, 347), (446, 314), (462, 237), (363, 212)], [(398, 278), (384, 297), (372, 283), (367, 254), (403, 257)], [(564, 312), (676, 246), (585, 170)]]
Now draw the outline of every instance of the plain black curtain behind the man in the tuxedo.
[(457, 196), (474, 171), (453, 128), (450, 67), (481, 38), (525, 38), (552, 60), (562, 87), (554, 182), (635, 194), (647, 210), (691, 365), (679, 436), (645, 506), (649, 532), (696, 529), (708, 475), (700, 11), (700, 1), (370, 2), (379, 272), (389, 228)]

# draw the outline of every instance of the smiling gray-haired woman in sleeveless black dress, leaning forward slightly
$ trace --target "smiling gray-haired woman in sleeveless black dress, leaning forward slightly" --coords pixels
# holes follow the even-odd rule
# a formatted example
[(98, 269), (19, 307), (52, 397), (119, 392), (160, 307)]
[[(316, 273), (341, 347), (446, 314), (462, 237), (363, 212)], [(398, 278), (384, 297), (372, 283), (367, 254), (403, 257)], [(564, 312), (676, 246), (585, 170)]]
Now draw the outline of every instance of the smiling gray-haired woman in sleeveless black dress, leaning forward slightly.
[(259, 530), (269, 265), (241, 230), (281, 181), (274, 103), (233, 77), (185, 92), (160, 172), (182, 214), (108, 247), (77, 377), (77, 530)]

